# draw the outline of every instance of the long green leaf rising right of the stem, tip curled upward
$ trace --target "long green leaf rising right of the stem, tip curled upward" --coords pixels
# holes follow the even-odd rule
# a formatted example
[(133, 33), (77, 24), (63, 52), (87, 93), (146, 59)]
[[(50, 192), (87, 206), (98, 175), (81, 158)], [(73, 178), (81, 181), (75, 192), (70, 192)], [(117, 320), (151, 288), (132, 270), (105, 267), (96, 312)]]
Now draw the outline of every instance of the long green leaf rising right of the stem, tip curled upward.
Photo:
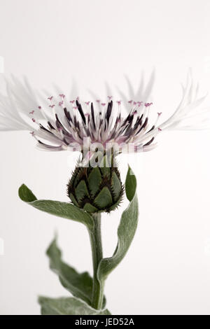
[[(132, 175), (131, 175), (132, 173)], [(132, 169), (128, 169), (125, 191), (127, 199), (130, 200), (130, 204), (127, 209), (123, 211), (120, 225), (118, 227), (118, 245), (116, 251), (113, 253), (111, 258), (104, 258), (99, 263), (97, 276), (99, 281), (104, 281), (109, 273), (120, 263), (125, 257), (134, 234), (137, 230), (139, 207), (136, 195), (137, 179), (134, 176)]]

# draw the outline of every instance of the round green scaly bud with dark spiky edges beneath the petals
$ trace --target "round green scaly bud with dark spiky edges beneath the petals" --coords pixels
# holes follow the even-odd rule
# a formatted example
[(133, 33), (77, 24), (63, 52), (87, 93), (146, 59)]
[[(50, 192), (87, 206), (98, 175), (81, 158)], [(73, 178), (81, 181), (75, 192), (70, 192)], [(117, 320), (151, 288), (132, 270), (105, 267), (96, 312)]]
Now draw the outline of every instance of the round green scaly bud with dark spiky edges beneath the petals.
[(105, 156), (102, 167), (76, 167), (67, 185), (71, 202), (90, 213), (110, 212), (123, 199), (124, 188), (118, 168), (113, 162), (106, 167), (106, 160)]

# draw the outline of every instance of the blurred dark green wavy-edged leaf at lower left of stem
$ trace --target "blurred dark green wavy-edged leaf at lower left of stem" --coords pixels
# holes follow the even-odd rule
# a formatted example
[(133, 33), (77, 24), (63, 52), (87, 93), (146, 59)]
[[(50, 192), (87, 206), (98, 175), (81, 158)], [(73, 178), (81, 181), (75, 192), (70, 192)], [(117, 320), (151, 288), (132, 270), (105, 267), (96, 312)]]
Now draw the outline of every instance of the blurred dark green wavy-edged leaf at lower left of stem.
[(73, 296), (91, 304), (92, 277), (87, 272), (76, 272), (76, 269), (62, 261), (62, 252), (57, 246), (56, 238), (50, 244), (47, 255), (50, 259), (50, 269), (59, 276), (62, 286)]

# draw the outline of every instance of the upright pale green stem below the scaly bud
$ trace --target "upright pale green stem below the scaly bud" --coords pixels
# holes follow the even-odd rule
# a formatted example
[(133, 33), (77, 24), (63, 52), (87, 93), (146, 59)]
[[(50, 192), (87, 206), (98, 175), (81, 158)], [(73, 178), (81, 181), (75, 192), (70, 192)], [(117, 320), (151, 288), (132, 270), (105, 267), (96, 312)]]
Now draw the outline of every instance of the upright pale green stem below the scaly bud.
[(104, 299), (104, 283), (99, 282), (97, 277), (99, 262), (103, 258), (101, 214), (93, 214), (92, 217), (94, 218), (94, 228), (89, 232), (93, 265), (92, 307), (94, 307), (94, 309), (102, 309)]

